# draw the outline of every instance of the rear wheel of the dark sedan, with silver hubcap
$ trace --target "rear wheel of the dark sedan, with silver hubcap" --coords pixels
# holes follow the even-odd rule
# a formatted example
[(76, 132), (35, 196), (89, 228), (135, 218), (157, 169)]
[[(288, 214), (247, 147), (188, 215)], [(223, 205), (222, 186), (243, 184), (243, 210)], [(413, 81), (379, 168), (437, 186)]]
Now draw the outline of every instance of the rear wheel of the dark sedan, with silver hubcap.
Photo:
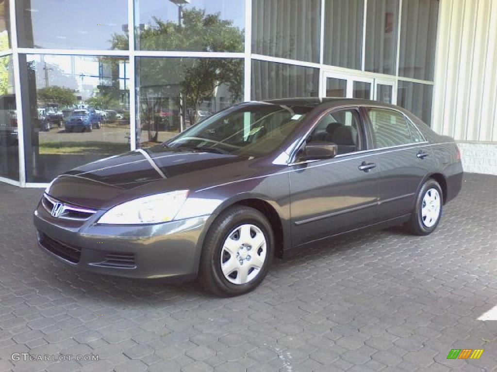
[(433, 179), (428, 179), (416, 196), (411, 221), (407, 223), (409, 232), (424, 236), (435, 231), (443, 210), (443, 193), (440, 185)]

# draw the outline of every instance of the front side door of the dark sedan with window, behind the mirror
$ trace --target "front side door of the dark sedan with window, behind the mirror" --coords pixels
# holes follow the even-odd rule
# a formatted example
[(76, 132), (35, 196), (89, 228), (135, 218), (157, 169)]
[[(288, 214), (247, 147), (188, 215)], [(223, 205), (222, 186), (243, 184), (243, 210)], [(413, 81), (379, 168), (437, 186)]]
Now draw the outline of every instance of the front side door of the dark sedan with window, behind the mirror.
[(292, 243), (319, 240), (367, 225), (376, 217), (378, 168), (366, 149), (365, 130), (358, 110), (326, 115), (308, 136), (310, 141), (337, 144), (333, 159), (291, 166)]

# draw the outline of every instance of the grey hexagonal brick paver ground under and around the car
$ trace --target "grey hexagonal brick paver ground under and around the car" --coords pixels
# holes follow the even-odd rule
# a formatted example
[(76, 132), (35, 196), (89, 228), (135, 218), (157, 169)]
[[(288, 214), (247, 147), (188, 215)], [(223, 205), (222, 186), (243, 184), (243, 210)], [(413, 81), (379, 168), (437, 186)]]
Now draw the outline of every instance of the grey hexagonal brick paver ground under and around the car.
[[(429, 237), (316, 245), (232, 299), (52, 260), (31, 223), (41, 192), (0, 185), (0, 372), (497, 371), (497, 321), (476, 320), (497, 305), (497, 177), (466, 175)], [(485, 351), (447, 360), (453, 348)]]

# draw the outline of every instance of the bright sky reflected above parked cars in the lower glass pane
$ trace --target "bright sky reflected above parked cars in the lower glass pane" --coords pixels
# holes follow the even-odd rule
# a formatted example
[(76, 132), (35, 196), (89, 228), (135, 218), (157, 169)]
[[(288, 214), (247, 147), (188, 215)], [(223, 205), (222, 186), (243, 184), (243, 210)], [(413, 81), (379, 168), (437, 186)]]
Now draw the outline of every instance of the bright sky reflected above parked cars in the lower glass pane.
[[(74, 89), (77, 95), (81, 95), (83, 100), (93, 96), (97, 85), (111, 85), (111, 69), (109, 63), (103, 64), (103, 74), (100, 76), (98, 60), (94, 57), (84, 56), (54, 56), (54, 55), (31, 55), (28, 62), (34, 61), (36, 64), (36, 89), (46, 86), (48, 77), (49, 86), (61, 86)], [(49, 69), (45, 75), (45, 63)], [(120, 88), (124, 89), (124, 68), (120, 63)], [(129, 68), (129, 67), (128, 67)], [(129, 70), (127, 68), (127, 73)], [(126, 75), (129, 81), (129, 75)]]

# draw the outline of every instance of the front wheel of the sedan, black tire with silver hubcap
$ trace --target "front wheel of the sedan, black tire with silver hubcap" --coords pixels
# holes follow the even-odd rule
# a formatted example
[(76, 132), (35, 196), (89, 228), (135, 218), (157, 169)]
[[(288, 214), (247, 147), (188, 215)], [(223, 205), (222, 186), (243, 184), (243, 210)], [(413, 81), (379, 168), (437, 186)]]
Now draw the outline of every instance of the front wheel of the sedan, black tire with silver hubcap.
[[(238, 243), (239, 240), (245, 242)], [(233, 244), (230, 245), (230, 241)], [(257, 251), (252, 245), (258, 246)], [(233, 250), (233, 254), (228, 248)], [(262, 282), (271, 265), (273, 252), (274, 234), (266, 217), (250, 207), (229, 208), (216, 218), (207, 232), (198, 281), (219, 297), (243, 295)]]

